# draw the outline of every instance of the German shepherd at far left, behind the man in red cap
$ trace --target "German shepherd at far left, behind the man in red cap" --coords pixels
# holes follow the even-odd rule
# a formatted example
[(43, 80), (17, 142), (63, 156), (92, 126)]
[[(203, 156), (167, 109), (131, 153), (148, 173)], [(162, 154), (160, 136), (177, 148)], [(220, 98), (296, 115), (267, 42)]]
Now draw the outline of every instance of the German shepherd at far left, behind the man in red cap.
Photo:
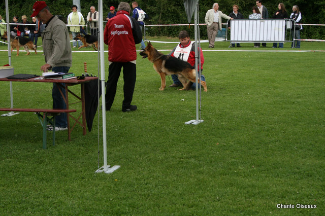
[[(1, 38), (8, 41), (7, 31), (4, 32), (4, 35), (2, 35)], [(25, 55), (30, 54), (28, 48), (31, 50), (34, 50), (35, 54), (37, 54), (36, 47), (34, 47), (34, 44), (32, 44), (32, 41), (29, 40), (28, 38), (21, 37), (21, 36), (12, 37), (12, 35), (10, 35), (10, 39), (11, 39), (10, 40), (10, 45), (11, 45), (10, 52), (12, 52), (16, 48), (16, 50), (17, 50), (16, 56), (19, 56), (19, 47), (23, 47), (24, 50), (26, 50), (27, 54), (25, 54)]]

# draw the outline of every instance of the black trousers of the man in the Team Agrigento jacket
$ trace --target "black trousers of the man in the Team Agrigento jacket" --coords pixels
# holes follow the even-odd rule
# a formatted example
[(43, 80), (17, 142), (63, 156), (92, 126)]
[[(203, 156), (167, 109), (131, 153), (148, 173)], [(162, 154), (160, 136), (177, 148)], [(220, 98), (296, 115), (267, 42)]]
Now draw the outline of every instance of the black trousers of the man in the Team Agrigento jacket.
[(131, 62), (113, 62), (108, 68), (108, 81), (106, 86), (106, 109), (110, 110), (116, 94), (117, 82), (123, 67), (123, 92), (124, 100), (122, 109), (128, 109), (131, 106), (134, 87), (136, 85), (137, 68), (136, 64)]

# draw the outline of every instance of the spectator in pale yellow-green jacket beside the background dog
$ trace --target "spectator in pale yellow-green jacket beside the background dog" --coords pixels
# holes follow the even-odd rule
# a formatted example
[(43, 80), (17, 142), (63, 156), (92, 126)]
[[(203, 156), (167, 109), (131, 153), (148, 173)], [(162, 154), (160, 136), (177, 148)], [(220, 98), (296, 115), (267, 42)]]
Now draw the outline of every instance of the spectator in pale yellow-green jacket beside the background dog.
[[(72, 12), (68, 16), (68, 24), (69, 25), (84, 25), (85, 19), (83, 18), (82, 14), (78, 12), (78, 7), (76, 5), (71, 6)], [(75, 38), (77, 33), (80, 33), (80, 29), (83, 29), (82, 26), (70, 26), (70, 31), (72, 33), (72, 38)], [(72, 42), (73, 48), (76, 48), (77, 42)], [(78, 47), (82, 46), (82, 42), (78, 40)]]

